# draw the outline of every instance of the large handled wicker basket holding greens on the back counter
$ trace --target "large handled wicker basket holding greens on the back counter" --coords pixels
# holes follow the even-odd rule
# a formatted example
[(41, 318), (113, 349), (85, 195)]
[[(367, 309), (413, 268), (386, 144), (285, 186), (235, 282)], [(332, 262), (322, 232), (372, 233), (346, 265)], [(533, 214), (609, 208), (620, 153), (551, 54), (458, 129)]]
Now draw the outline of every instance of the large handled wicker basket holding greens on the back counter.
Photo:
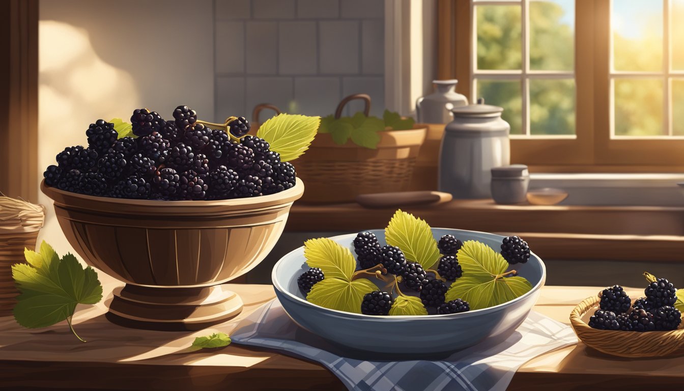
[[(336, 118), (353, 99), (363, 99), (364, 114), (369, 114), (370, 97), (354, 94), (340, 102)], [(377, 149), (353, 142), (339, 145), (330, 134), (317, 134), (308, 151), (294, 162), (297, 176), (306, 182), (302, 201), (354, 202), (359, 194), (408, 190), (425, 132), (425, 127), (382, 131)]]

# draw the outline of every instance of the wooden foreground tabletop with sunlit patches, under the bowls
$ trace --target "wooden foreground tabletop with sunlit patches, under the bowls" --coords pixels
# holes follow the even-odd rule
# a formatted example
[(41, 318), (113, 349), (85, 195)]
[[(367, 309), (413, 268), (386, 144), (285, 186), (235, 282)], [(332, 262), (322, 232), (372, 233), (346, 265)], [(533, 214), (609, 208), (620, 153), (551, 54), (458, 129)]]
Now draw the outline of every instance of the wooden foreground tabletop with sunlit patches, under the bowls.
[[(119, 283), (104, 277), (105, 293), (111, 292)], [(239, 320), (274, 298), (272, 286), (231, 284), (230, 289), (246, 303), (242, 314), (196, 332), (118, 327), (103, 316), (105, 303), (77, 311), (75, 328), (89, 340), (85, 344), (75, 340), (66, 324), (31, 330), (18, 327), (10, 317), (0, 318), (0, 389), (344, 389), (337, 377), (318, 364), (274, 351), (235, 344), (190, 351), (188, 347), (196, 336), (215, 331), (230, 334)], [(600, 289), (546, 286), (534, 310), (569, 324), (575, 304)], [(631, 292), (638, 294), (636, 290)], [(601, 384), (618, 388), (650, 386), (654, 382), (659, 386), (684, 384), (684, 357), (625, 360), (593, 351), (580, 342), (527, 362), (514, 375), (509, 390), (548, 390), (550, 385), (555, 391), (588, 390)]]

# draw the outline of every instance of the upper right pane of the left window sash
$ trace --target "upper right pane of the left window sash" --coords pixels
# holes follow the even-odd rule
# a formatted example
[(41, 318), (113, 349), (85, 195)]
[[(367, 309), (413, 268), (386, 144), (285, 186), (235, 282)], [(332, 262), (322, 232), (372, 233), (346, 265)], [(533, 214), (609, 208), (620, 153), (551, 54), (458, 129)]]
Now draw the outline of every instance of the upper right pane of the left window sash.
[(575, 62), (575, 0), (529, 3), (529, 68), (572, 71)]

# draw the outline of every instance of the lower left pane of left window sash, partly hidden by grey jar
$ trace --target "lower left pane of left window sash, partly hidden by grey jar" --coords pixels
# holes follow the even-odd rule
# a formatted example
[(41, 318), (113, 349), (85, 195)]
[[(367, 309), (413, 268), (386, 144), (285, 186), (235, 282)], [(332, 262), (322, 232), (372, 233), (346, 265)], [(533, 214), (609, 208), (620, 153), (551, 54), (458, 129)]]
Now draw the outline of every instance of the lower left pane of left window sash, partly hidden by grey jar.
[(501, 106), (501, 118), (511, 125), (511, 134), (525, 134), (523, 129), (523, 92), (520, 80), (477, 79), (477, 97), (484, 103)]

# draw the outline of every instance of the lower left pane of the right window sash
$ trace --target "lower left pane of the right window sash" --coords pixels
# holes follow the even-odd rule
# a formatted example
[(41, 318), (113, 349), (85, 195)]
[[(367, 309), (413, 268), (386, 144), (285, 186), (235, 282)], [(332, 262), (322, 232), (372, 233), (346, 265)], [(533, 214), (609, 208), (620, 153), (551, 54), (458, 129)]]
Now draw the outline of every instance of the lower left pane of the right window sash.
[(663, 81), (615, 79), (615, 135), (663, 136)]

